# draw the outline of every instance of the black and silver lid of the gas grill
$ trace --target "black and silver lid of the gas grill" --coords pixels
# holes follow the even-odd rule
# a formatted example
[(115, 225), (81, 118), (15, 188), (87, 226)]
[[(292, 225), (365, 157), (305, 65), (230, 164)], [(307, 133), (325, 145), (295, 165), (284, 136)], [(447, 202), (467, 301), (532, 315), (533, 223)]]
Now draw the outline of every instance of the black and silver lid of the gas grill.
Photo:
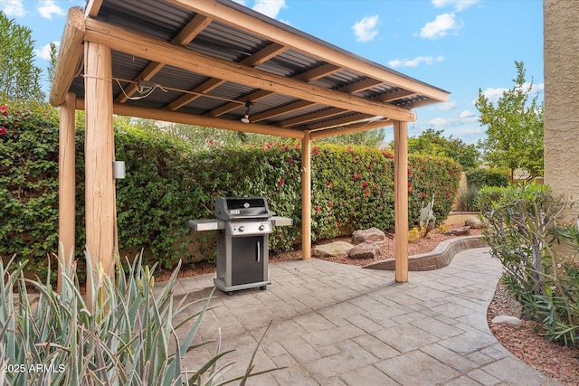
[(216, 197), (215, 215), (220, 220), (269, 219), (271, 212), (263, 197)]

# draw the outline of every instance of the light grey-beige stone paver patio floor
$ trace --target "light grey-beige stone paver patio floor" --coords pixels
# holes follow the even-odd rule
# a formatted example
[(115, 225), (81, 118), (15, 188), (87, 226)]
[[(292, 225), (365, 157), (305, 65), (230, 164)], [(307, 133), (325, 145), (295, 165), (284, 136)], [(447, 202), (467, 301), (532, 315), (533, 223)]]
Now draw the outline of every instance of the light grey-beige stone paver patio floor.
[[(241, 374), (269, 325), (254, 372), (284, 368), (251, 385), (559, 385), (490, 333), (486, 311), (500, 274), (486, 248), (410, 272), (403, 284), (391, 271), (320, 259), (271, 264), (266, 291), (214, 292), (194, 343), (214, 342), (185, 363), (198, 368), (221, 336), (221, 351), (235, 350), (220, 360), (234, 362), (225, 377)], [(180, 279), (175, 296), (207, 296), (213, 277)]]

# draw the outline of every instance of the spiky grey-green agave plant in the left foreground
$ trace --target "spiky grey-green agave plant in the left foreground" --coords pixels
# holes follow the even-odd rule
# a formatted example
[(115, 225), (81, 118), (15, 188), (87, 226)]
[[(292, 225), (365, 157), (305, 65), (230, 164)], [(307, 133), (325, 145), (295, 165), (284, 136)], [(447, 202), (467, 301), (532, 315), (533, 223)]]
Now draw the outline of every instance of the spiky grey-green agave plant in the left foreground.
[[(223, 380), (224, 368), (218, 368), (217, 361), (230, 352), (219, 350), (200, 369), (185, 371), (185, 353), (202, 345), (192, 342), (211, 296), (175, 302), (180, 263), (155, 296), (155, 267), (142, 266), (141, 257), (128, 264), (128, 273), (117, 258), (114, 281), (100, 267), (92, 268), (88, 254), (85, 258), (87, 277), (92, 278), (87, 288), (90, 305), (81, 295), (72, 264), (62, 267), (58, 294), (52, 290), (50, 272), (45, 283), (29, 280), (24, 278), (25, 262), (10, 272), (14, 258), (6, 269), (0, 260), (0, 384), (244, 384), (248, 377), (262, 373), (252, 373), (252, 358), (247, 372)], [(37, 302), (30, 301), (27, 287), (38, 291)], [(176, 316), (191, 308), (197, 311), (174, 325)], [(180, 340), (177, 331), (192, 321)]]

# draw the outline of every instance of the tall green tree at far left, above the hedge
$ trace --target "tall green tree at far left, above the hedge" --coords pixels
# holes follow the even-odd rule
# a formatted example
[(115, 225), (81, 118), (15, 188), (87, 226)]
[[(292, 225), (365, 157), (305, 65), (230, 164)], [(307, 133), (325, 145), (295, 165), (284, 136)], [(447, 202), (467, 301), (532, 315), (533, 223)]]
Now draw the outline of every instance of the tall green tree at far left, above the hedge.
[(0, 12), (0, 93), (5, 98), (44, 99), (42, 70), (33, 61), (32, 30)]

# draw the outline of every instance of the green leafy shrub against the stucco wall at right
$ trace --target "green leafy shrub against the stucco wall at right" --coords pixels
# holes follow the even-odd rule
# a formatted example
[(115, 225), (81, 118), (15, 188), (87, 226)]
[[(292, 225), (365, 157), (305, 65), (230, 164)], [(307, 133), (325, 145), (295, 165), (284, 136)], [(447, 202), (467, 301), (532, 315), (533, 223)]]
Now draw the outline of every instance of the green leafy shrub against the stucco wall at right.
[(505, 268), (504, 281), (551, 340), (579, 344), (579, 268), (552, 249), (565, 240), (579, 251), (576, 227), (557, 228), (569, 203), (546, 185), (480, 191), (485, 240)]

